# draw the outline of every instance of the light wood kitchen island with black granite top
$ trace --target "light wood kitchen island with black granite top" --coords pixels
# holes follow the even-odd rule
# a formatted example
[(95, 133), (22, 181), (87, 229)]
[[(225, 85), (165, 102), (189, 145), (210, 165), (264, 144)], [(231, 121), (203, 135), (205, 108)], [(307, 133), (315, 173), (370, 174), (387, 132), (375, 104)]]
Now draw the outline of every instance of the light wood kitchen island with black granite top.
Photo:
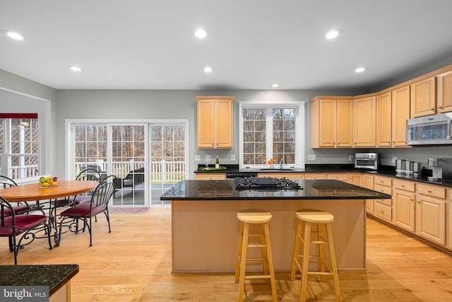
[[(234, 180), (183, 180), (160, 199), (172, 201), (173, 272), (233, 272), (242, 209), (273, 215), (270, 238), (275, 270), (289, 271), (297, 209), (334, 215), (333, 239), (339, 269), (366, 268), (365, 199), (391, 199), (338, 180), (297, 180), (302, 190), (237, 190)], [(252, 269), (252, 267), (251, 267)]]

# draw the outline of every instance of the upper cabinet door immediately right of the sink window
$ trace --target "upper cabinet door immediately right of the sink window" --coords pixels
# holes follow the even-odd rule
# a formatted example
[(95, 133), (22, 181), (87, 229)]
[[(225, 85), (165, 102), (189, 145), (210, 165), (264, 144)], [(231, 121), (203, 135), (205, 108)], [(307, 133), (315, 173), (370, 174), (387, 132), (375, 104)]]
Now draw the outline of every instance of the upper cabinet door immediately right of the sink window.
[(336, 144), (336, 100), (319, 100), (319, 146)]

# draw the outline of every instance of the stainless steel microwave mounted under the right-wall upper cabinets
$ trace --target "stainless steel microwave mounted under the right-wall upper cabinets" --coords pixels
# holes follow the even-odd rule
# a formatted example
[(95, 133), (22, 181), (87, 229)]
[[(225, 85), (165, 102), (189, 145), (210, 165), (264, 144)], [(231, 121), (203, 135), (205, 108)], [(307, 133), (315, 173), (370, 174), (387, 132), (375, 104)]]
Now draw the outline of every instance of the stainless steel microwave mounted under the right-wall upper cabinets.
[(407, 122), (407, 144), (452, 144), (451, 122), (452, 112), (412, 118)]

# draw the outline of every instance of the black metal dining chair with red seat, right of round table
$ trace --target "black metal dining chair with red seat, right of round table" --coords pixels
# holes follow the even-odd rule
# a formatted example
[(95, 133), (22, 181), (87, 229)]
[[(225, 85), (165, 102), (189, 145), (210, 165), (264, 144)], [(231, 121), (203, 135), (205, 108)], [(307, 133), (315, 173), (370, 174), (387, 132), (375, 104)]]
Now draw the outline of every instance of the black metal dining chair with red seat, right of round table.
[[(109, 178), (114, 179), (114, 178)], [(112, 198), (114, 193), (114, 182), (112, 181), (102, 181), (97, 185), (93, 194), (91, 195), (90, 202), (81, 202), (79, 204), (74, 204), (69, 209), (62, 211), (59, 216), (62, 219), (59, 221), (59, 233), (58, 233), (58, 245), (61, 243), (61, 234), (63, 233), (63, 227), (67, 227), (69, 231), (73, 233), (78, 233), (81, 231), (79, 229), (79, 221), (83, 222), (83, 229), (88, 228), (90, 233), (90, 246), (93, 246), (93, 217), (97, 214), (104, 213), (107, 218), (108, 223), (108, 233), (112, 232), (110, 228), (110, 220), (108, 213), (108, 203)]]

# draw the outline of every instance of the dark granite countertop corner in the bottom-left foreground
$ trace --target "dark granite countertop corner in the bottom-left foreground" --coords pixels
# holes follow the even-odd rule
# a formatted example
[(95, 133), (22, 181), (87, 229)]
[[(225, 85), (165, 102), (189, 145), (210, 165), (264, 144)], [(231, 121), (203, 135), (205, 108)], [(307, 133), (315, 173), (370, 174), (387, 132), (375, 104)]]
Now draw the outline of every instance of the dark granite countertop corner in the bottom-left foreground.
[(0, 285), (49, 286), (52, 296), (78, 273), (78, 265), (0, 265)]

